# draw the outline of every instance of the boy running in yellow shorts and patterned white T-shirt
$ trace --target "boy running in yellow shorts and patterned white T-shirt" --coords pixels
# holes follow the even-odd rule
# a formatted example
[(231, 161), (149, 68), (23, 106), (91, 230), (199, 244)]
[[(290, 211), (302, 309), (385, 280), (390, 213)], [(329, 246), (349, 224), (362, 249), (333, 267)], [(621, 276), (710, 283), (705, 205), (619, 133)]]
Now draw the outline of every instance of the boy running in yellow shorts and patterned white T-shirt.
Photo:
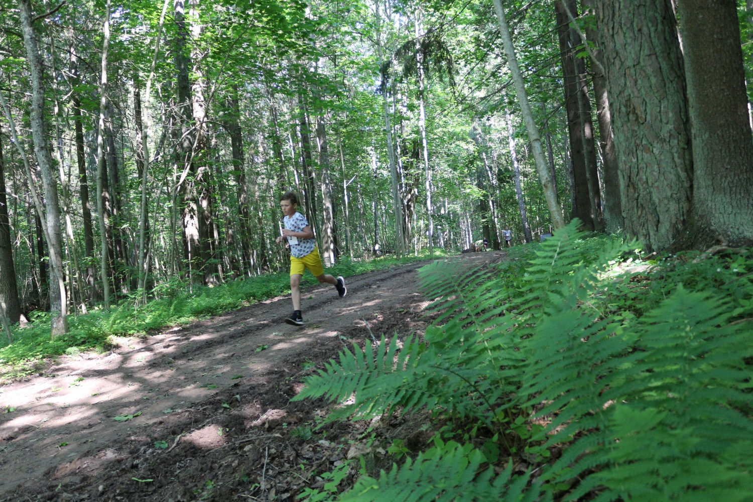
[(309, 269), (317, 281), (328, 282), (337, 288), (340, 298), (347, 294), (348, 289), (342, 275), (334, 278), (325, 274), (314, 233), (306, 217), (297, 211), (298, 196), (293, 192), (285, 192), (280, 199), (280, 208), (285, 214), (282, 220), (285, 230), (282, 230), (282, 236), (277, 238), (277, 244), (281, 243), (282, 239), (288, 239), (290, 245), (290, 292), (293, 299), (293, 313), (285, 318), (285, 322), (303, 326), (303, 316), (300, 314), (300, 278), (303, 277), (304, 269)]

